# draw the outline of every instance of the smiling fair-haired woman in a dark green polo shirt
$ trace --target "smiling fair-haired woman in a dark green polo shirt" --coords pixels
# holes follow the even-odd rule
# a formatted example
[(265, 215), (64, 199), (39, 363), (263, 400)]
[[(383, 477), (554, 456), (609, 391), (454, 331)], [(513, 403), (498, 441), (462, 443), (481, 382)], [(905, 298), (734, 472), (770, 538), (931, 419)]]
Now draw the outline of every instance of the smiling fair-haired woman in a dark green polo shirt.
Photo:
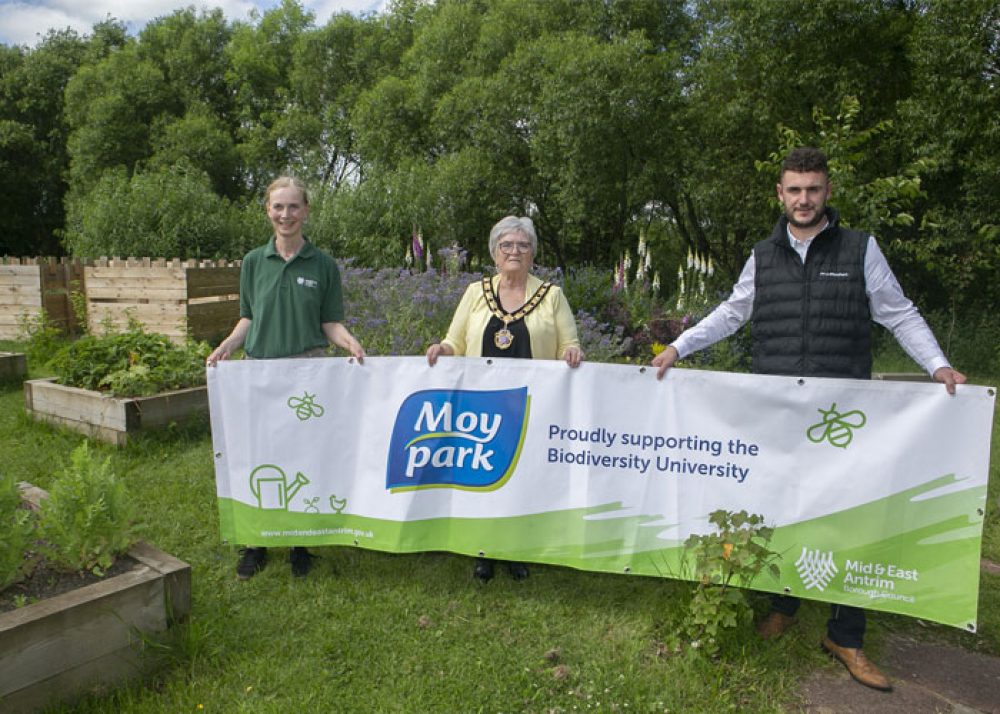
[[(365, 351), (344, 326), (340, 272), (333, 258), (302, 234), (309, 195), (296, 178), (282, 176), (267, 189), (267, 217), (274, 237), (247, 253), (240, 269), (240, 319), (229, 337), (208, 356), (208, 366), (246, 346), (246, 359), (323, 357), (330, 343), (359, 362)], [(292, 575), (304, 577), (312, 555), (289, 553)], [(267, 549), (240, 551), (236, 577), (249, 580), (267, 562)]]

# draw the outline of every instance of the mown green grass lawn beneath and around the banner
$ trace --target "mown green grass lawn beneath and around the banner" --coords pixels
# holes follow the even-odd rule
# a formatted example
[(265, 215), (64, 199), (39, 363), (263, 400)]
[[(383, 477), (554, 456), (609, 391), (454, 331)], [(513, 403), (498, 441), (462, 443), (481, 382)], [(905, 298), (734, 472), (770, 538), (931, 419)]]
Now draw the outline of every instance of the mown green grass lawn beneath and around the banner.
[[(997, 428), (983, 540), (994, 561)], [(43, 488), (82, 440), (28, 422), (17, 386), (0, 392), (0, 433), (5, 469)], [(776, 643), (747, 627), (717, 660), (674, 653), (665, 643), (691, 586), (656, 578), (532, 566), (524, 582), (499, 569), (483, 587), (460, 556), (329, 547), (314, 550), (308, 578), (293, 580), (287, 550), (272, 549), (239, 582), (236, 548), (219, 540), (207, 422), (97, 448), (138, 500), (143, 537), (191, 564), (193, 608), (147, 647), (141, 686), (94, 693), (74, 712), (769, 712), (794, 706), (810, 672), (837, 666), (817, 646), (822, 603), (804, 604)], [(1000, 578), (983, 575), (979, 634), (882, 613), (869, 623), (875, 662), (890, 632), (1000, 655)]]

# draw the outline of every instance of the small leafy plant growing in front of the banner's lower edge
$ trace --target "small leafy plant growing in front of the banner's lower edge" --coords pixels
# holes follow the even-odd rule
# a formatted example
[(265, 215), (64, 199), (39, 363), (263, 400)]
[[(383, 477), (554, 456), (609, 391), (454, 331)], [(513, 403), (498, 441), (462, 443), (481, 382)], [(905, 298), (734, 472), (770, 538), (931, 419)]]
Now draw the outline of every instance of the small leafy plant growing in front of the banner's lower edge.
[(708, 519), (717, 532), (692, 535), (684, 543), (694, 559), (698, 582), (684, 634), (691, 647), (715, 654), (725, 630), (749, 624), (753, 617), (742, 588), (749, 587), (764, 569), (778, 577), (774, 560), (779, 556), (768, 548), (774, 529), (764, 525), (763, 516), (720, 509), (710, 513)]

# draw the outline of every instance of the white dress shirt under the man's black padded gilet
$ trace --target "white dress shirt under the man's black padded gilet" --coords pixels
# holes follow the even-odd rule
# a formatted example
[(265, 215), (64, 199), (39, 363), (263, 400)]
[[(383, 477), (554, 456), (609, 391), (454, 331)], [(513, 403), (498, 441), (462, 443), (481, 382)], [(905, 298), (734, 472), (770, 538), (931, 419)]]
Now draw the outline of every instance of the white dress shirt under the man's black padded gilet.
[[(805, 240), (798, 240), (791, 232), (788, 233), (790, 245), (803, 262), (813, 239), (824, 228), (825, 225)], [(729, 299), (674, 340), (672, 346), (677, 350), (680, 359), (724, 340), (750, 319), (753, 311), (755, 274), (756, 265), (751, 253)], [(872, 319), (888, 329), (906, 353), (929, 375), (933, 376), (941, 367), (951, 366), (927, 322), (913, 302), (903, 294), (903, 289), (899, 286), (896, 276), (892, 274), (889, 263), (882, 255), (874, 236), (868, 237), (868, 249), (865, 252), (865, 293), (868, 295)]]

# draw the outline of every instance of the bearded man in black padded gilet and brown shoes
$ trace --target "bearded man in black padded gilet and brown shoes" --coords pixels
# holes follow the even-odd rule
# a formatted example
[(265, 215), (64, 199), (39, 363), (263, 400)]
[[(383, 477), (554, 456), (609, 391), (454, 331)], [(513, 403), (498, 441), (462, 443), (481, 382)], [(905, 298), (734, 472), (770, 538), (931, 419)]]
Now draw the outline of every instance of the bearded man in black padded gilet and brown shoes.
[[(890, 330), (906, 352), (950, 394), (965, 376), (948, 364), (920, 313), (903, 294), (875, 238), (839, 225), (826, 157), (795, 149), (781, 165), (784, 215), (753, 253), (726, 302), (653, 360), (657, 378), (677, 360), (753, 326), (753, 371), (811, 377), (871, 378), (871, 323)], [(795, 622), (798, 598), (772, 596), (757, 626), (765, 640)], [(831, 605), (821, 646), (858, 682), (892, 685), (861, 649), (865, 611)]]

